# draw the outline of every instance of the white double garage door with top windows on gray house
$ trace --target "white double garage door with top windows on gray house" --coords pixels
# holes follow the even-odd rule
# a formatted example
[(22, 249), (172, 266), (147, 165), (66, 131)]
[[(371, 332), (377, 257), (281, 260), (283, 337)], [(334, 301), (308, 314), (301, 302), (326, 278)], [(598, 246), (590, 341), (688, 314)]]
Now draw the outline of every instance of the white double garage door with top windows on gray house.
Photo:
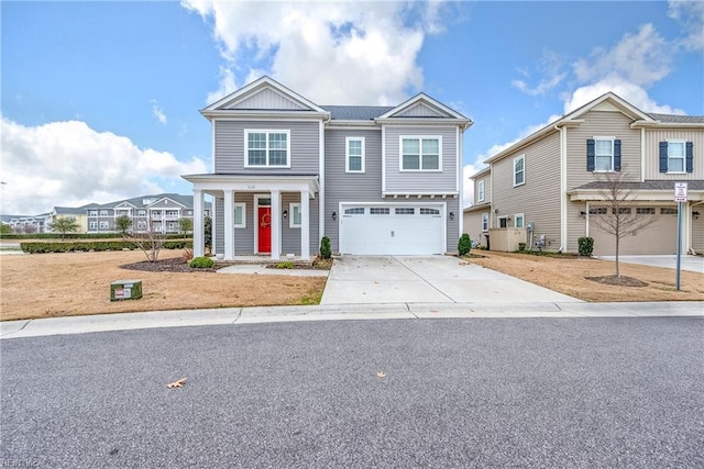
[(340, 252), (359, 255), (444, 253), (444, 205), (342, 205)]

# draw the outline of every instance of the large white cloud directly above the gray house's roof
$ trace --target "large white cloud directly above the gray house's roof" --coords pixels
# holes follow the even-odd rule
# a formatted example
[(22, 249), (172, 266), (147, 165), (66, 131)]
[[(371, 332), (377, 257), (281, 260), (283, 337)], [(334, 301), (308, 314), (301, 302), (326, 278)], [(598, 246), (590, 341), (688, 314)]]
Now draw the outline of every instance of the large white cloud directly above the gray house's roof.
[(446, 8), (437, 1), (182, 4), (212, 19), (229, 69), (246, 56), (242, 75), (266, 71), (320, 104), (398, 103), (409, 88), (420, 89), (416, 59), (426, 34), (442, 31)]

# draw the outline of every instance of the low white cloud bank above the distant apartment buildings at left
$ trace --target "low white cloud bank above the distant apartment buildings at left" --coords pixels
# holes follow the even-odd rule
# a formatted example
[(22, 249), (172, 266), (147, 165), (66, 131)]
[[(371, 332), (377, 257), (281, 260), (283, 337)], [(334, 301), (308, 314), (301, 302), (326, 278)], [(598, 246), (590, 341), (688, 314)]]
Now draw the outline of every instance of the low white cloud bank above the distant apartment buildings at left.
[(200, 158), (180, 161), (85, 122), (24, 126), (2, 118), (0, 125), (2, 213), (37, 214), (55, 205), (158, 193), (180, 175), (207, 170)]

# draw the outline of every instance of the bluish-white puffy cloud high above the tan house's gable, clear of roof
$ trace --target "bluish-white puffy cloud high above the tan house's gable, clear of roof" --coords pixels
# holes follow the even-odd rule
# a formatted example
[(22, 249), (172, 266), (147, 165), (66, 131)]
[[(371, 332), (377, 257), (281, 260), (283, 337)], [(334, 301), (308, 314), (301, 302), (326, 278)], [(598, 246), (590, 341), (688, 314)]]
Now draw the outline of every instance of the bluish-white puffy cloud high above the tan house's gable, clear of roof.
[(588, 58), (575, 62), (573, 68), (582, 82), (617, 75), (631, 83), (647, 86), (670, 74), (672, 52), (671, 43), (649, 23), (640, 26), (637, 34), (626, 33), (610, 49), (595, 48)]

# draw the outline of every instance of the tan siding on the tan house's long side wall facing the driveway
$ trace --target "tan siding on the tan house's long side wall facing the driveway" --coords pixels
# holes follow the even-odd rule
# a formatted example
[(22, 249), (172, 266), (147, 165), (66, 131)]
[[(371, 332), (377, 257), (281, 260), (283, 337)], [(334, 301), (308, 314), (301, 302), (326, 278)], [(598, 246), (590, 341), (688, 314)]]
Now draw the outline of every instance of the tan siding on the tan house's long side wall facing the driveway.
[[(514, 187), (514, 159), (525, 155), (525, 181)], [(535, 239), (546, 236), (546, 250), (560, 248), (560, 135), (554, 132), (492, 165), (492, 213), (490, 227), (498, 227), (498, 217), (524, 214), (526, 226), (532, 222)], [(528, 239), (529, 242), (529, 239)]]

